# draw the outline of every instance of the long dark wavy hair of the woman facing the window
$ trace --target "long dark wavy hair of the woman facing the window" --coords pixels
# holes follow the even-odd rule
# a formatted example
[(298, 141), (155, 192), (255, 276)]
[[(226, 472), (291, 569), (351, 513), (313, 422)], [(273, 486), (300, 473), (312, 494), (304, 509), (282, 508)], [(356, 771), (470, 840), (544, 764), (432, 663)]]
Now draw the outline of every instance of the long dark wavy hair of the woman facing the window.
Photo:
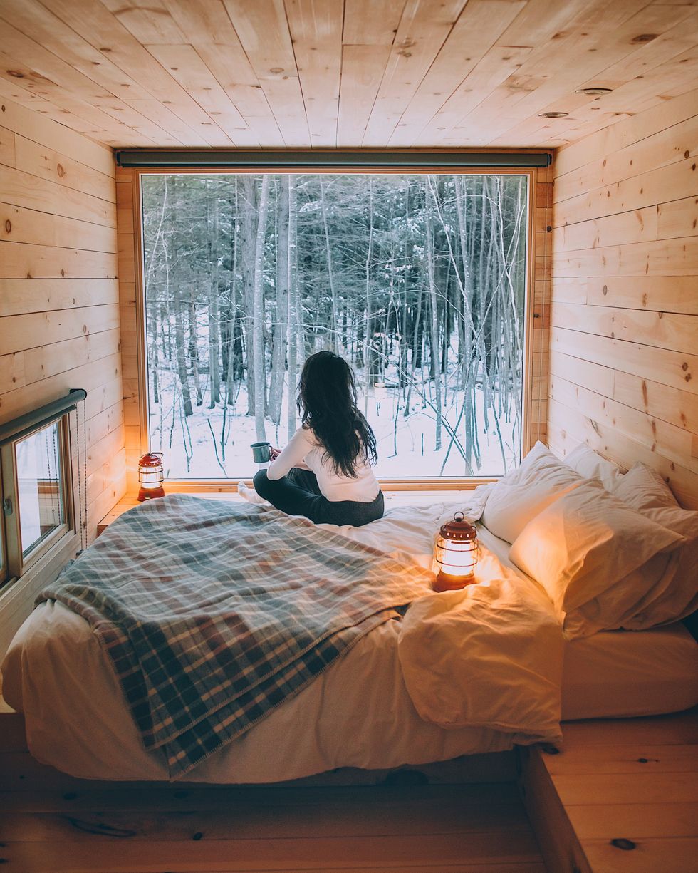
[(375, 464), (376, 438), (356, 408), (352, 368), (333, 352), (311, 354), (298, 382), (298, 415), (332, 458), (334, 471), (356, 478), (359, 457)]

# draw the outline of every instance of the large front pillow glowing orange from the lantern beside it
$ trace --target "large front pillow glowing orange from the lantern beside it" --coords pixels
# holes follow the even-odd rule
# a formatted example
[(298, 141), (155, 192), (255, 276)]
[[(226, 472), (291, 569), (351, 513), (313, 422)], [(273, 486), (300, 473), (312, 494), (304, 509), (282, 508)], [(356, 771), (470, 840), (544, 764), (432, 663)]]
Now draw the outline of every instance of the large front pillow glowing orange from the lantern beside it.
[(598, 480), (585, 479), (524, 527), (509, 557), (544, 586), (558, 615), (565, 615), (565, 636), (575, 638), (606, 627), (603, 601), (593, 608), (592, 623), (583, 613), (571, 614), (683, 542), (681, 534), (634, 512)]

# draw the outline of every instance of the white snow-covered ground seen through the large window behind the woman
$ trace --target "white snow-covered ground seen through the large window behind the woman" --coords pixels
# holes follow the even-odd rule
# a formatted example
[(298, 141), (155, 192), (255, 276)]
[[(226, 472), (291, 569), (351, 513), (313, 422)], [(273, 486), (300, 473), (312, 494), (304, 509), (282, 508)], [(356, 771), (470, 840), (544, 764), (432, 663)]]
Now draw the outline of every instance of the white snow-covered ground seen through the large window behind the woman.
[[(258, 469), (252, 460), (250, 443), (257, 442), (254, 416), (247, 413), (247, 392), (240, 387), (234, 406), (225, 410), (225, 439), (222, 450), (223, 404), (209, 409), (209, 395), (204, 390), (201, 406), (194, 406), (194, 415), (186, 421), (179, 400), (173, 415), (173, 379), (161, 370), (159, 403), (150, 400), (151, 449), (164, 452), (167, 478), (251, 478)], [(361, 376), (359, 383), (361, 382)], [(202, 380), (203, 381), (203, 380)], [(438, 477), (468, 475), (465, 462), (445, 426), (441, 429), (441, 449), (435, 450), (435, 414), (413, 389), (408, 416), (404, 416), (402, 392), (398, 388), (370, 388), (366, 417), (378, 442), (379, 460), (376, 473), (380, 477)], [(192, 402), (195, 395), (192, 392)], [(395, 416), (396, 404), (400, 410)], [(448, 390), (444, 418), (452, 426), (462, 408), (462, 392)], [(281, 423), (267, 420), (266, 439), (279, 448), (288, 440), (287, 392), (284, 391)], [(364, 397), (359, 396), (359, 409), (364, 409)], [(499, 419), (503, 450), (497, 434), (495, 418), (489, 409), (489, 430), (485, 430), (482, 391), (476, 391), (477, 436), (480, 466), (473, 459), (476, 476), (499, 476), (518, 463), (519, 437), (514, 434), (513, 415)], [(512, 414), (513, 414), (513, 410)], [(213, 434), (211, 433), (213, 431)], [(457, 428), (464, 442), (464, 424)], [(189, 458), (187, 459), (187, 456)]]

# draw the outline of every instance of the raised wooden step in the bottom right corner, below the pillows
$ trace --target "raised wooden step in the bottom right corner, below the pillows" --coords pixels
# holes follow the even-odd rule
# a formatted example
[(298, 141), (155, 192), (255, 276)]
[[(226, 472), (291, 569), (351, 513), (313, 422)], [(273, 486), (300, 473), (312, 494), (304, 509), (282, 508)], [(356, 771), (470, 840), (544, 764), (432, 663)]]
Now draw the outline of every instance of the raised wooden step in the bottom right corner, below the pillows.
[(550, 873), (695, 873), (698, 712), (563, 725), (521, 750), (520, 788)]

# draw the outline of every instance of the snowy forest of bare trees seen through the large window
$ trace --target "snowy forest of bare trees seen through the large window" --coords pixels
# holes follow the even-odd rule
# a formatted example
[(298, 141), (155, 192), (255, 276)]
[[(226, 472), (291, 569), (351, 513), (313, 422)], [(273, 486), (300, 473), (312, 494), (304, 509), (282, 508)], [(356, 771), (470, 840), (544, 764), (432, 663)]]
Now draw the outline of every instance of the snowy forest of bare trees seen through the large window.
[(352, 365), (383, 477), (500, 475), (520, 453), (527, 177), (142, 177), (151, 449), (249, 478), (298, 375)]

